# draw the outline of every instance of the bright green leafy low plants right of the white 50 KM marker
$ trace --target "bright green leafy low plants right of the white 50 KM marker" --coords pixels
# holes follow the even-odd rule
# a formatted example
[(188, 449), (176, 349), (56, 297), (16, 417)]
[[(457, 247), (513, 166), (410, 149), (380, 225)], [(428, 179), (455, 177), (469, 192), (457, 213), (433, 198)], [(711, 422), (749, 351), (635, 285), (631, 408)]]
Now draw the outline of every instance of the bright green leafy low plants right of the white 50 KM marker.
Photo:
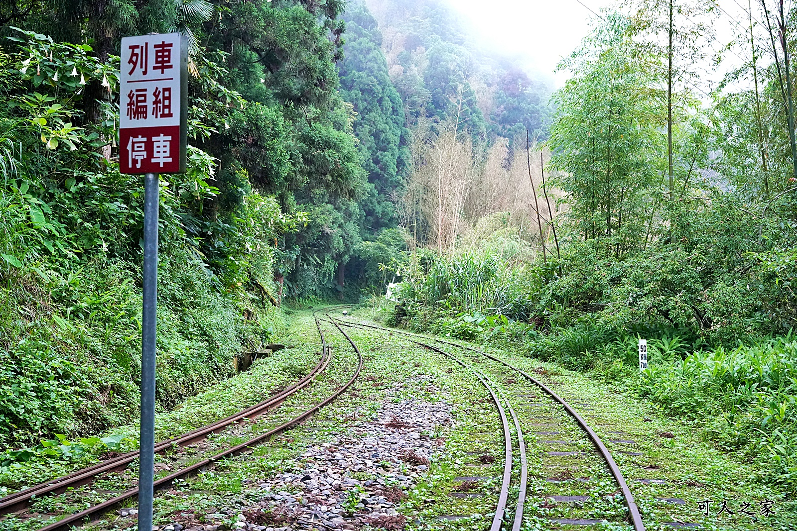
[(797, 490), (797, 341), (791, 335), (652, 363), (637, 387), (670, 415), (708, 421), (710, 439), (758, 457), (775, 481)]

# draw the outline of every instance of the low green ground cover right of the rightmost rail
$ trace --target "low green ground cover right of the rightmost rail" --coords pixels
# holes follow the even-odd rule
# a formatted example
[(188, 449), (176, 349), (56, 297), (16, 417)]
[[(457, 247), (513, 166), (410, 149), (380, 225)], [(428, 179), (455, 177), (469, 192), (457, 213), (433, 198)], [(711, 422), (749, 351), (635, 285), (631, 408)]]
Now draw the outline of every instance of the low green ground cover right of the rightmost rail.
[[(368, 317), (371, 315), (369, 312)], [(770, 469), (764, 459), (749, 459), (747, 455), (723, 451), (703, 436), (695, 423), (673, 418), (659, 404), (641, 400), (634, 388), (618, 385), (616, 381), (607, 384), (584, 373), (564, 369), (553, 361), (528, 358), (523, 349), (500, 342), (478, 346), (522, 369), (537, 369), (543, 373), (540, 379), (551, 384), (571, 404), (578, 404), (576, 409), (604, 441), (618, 440), (618, 437), (634, 441), (630, 445), (607, 443), (607, 446), (630, 480), (629, 486), (646, 523), (651, 524), (649, 529), (656, 529), (656, 522), (665, 521), (698, 522), (705, 529), (791, 529), (792, 522), (797, 520), (797, 506), (791, 501), (789, 490), (767, 481)], [(776, 371), (771, 373), (774, 376)], [(616, 431), (622, 435), (613, 433)], [(661, 433), (672, 433), (674, 438), (659, 436)], [(643, 455), (625, 455), (619, 451)], [(659, 468), (647, 470), (646, 467)], [(664, 478), (667, 483), (645, 485), (636, 481), (645, 478)], [(550, 490), (550, 485), (532, 480), (530, 488), (530, 492)], [(560, 492), (575, 494), (577, 490)], [(682, 498), (687, 503), (676, 506), (656, 498)], [(706, 499), (719, 502), (714, 504), (710, 516), (706, 516), (699, 506)], [(715, 514), (723, 500), (727, 500), (728, 506), (736, 512), (732, 517), (727, 513), (720, 517)], [(774, 502), (776, 512), (764, 518), (760, 514), (760, 503), (767, 500)], [(540, 502), (536, 499), (532, 506), (537, 506), (540, 514), (547, 515), (544, 509), (540, 509), (544, 506)], [(745, 502), (755, 508), (755, 519), (740, 514), (740, 504)], [(532, 513), (534, 511), (532, 509)]]

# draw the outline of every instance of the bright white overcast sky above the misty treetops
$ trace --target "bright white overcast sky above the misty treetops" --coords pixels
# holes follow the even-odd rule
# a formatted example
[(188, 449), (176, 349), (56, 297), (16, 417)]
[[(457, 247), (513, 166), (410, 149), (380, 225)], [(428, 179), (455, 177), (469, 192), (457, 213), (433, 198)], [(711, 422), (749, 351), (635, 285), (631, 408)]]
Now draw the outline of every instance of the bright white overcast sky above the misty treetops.
[[(539, 72), (556, 88), (567, 80), (567, 72), (553, 71), (562, 57), (569, 55), (581, 39), (590, 31), (589, 21), (604, 7), (614, 5), (614, 0), (442, 0), (462, 14), (473, 25), (477, 34), (473, 37), (485, 48), (495, 49), (502, 55), (515, 58), (529, 72)], [(721, 10), (717, 13), (715, 31), (717, 41), (713, 48), (720, 49), (733, 38), (733, 29), (741, 31), (739, 24), (747, 25), (748, 0), (719, 0)], [(753, 2), (753, 17), (762, 18)], [(589, 8), (589, 9), (587, 9)], [(733, 20), (732, 20), (733, 19)], [(738, 23), (738, 24), (737, 24)], [(764, 40), (763, 28), (756, 29)], [(749, 44), (740, 43), (733, 50), (740, 57), (750, 55)], [(727, 54), (725, 68), (742, 61), (733, 53)], [(719, 80), (722, 72), (707, 73), (707, 77)]]

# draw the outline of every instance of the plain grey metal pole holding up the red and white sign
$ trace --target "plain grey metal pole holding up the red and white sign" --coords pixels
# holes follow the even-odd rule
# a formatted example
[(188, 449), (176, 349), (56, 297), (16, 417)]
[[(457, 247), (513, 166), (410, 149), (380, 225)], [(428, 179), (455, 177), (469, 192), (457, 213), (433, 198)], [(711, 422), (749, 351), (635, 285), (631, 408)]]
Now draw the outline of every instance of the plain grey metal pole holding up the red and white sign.
[(144, 176), (144, 266), (141, 334), (141, 434), (139, 437), (139, 531), (152, 530), (155, 467), (155, 326), (158, 303), (158, 174)]

